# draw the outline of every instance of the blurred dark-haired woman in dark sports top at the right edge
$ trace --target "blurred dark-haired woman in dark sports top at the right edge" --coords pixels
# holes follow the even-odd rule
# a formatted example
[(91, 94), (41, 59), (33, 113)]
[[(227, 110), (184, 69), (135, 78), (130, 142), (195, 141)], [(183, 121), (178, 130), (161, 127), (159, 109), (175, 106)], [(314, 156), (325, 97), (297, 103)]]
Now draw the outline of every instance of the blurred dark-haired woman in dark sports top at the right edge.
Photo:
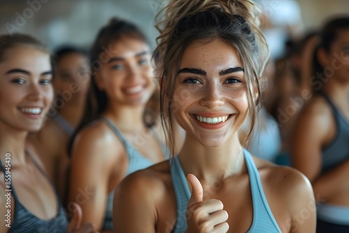
[(316, 96), (306, 105), (292, 135), (292, 165), (313, 184), (317, 232), (349, 232), (349, 16), (320, 31)]

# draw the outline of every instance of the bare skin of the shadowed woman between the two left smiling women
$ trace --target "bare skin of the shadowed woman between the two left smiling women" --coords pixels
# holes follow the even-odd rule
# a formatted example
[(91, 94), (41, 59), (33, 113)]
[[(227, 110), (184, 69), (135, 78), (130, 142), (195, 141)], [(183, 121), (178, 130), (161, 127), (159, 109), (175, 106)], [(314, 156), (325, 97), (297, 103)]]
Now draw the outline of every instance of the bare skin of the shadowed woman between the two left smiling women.
[(68, 160), (68, 143), (70, 135), (59, 124), (52, 120), (57, 113), (70, 126), (77, 127), (84, 110), (90, 75), (87, 67), (88, 59), (83, 54), (65, 54), (56, 67), (56, 75), (52, 81), (56, 98), (48, 113), (49, 118), (43, 128), (29, 135), (29, 142), (36, 144), (39, 156), (61, 199), (66, 198), (66, 170)]

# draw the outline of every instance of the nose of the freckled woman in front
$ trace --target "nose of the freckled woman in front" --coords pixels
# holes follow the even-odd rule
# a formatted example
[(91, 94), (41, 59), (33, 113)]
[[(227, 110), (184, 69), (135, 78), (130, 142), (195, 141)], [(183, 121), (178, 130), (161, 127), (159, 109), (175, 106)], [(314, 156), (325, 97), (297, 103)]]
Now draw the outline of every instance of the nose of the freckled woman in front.
[(224, 105), (224, 98), (222, 96), (222, 90), (219, 87), (218, 82), (209, 82), (206, 87), (202, 89), (202, 98), (200, 99), (200, 105), (207, 106), (211, 109)]

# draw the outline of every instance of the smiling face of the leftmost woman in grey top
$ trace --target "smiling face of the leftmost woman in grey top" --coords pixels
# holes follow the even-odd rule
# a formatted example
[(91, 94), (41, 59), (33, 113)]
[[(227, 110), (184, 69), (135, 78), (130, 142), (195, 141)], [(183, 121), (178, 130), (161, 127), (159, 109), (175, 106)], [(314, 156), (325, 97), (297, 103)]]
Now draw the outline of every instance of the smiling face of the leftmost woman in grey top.
[(53, 99), (50, 55), (30, 46), (8, 50), (0, 62), (0, 123), (37, 131)]

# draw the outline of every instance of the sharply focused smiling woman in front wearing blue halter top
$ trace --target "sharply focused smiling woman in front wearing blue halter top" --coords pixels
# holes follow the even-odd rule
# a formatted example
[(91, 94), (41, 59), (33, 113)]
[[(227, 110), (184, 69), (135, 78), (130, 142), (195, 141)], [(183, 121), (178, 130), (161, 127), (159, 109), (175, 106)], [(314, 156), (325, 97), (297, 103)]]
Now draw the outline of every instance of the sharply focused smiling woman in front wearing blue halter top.
[(168, 147), (175, 121), (186, 138), (172, 160), (120, 183), (114, 232), (315, 232), (305, 176), (239, 142), (247, 117), (247, 139), (253, 130), (267, 49), (257, 13), (248, 0), (172, 0), (160, 13), (154, 54)]

